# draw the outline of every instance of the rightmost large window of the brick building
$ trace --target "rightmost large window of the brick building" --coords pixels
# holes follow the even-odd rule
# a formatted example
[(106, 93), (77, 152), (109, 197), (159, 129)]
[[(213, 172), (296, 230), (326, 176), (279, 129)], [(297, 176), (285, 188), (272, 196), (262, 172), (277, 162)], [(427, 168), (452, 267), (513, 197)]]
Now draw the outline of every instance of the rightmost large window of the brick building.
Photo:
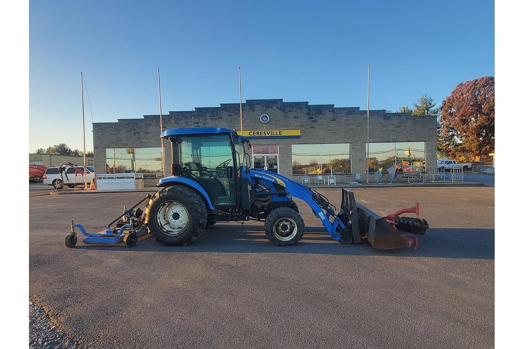
[(369, 172), (387, 170), (393, 165), (399, 172), (424, 171), (425, 142), (369, 143)]

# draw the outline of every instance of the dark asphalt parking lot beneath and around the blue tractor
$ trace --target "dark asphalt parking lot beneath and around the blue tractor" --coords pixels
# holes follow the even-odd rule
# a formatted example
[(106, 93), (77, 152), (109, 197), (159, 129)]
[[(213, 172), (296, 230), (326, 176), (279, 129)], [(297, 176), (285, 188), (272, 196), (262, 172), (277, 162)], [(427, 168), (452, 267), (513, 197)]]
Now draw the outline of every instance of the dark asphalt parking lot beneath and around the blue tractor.
[[(321, 192), (340, 205), (340, 189)], [(494, 188), (355, 189), (380, 215), (419, 201), (431, 228), (417, 251), (339, 244), (300, 200), (295, 246), (271, 245), (260, 222), (183, 247), (64, 246), (70, 219), (100, 231), (143, 196), (29, 198), (30, 297), (81, 346), (494, 346)]]

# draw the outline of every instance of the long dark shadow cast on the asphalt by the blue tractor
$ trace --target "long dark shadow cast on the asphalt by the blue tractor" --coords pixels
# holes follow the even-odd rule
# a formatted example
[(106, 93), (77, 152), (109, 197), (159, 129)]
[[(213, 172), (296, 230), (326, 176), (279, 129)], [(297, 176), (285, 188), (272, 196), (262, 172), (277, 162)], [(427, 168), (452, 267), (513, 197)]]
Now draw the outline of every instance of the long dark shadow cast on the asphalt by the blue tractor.
[(380, 251), (364, 242), (341, 244), (332, 240), (323, 227), (307, 227), (302, 240), (294, 246), (271, 244), (261, 225), (216, 224), (206, 229), (200, 238), (185, 246), (163, 246), (146, 235), (137, 245), (128, 249), (118, 246), (93, 246), (81, 242), (75, 248), (89, 250), (112, 250), (128, 252), (165, 253), (303, 253), (327, 255), (405, 256), (435, 258), (495, 258), (495, 230), (477, 228), (430, 228), (419, 237), (417, 250), (406, 249)]

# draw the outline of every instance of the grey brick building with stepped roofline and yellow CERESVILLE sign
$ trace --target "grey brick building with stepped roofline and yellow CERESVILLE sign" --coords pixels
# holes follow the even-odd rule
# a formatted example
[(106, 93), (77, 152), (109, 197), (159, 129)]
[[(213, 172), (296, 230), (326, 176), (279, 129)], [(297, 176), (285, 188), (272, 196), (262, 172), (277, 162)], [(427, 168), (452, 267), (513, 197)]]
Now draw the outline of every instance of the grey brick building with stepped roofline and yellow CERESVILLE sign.
[[(367, 111), (359, 107), (282, 99), (250, 99), (242, 104), (244, 136), (253, 145), (254, 167), (266, 168), (296, 180), (304, 175), (334, 173), (341, 179), (366, 173)], [(238, 103), (220, 107), (170, 111), (162, 115), (164, 129), (226, 127), (240, 131)], [(118, 122), (93, 123), (96, 173), (145, 172), (152, 185), (161, 176), (159, 115)], [(369, 112), (369, 168), (376, 171), (397, 164), (436, 164), (436, 117)], [(169, 169), (169, 142), (164, 143)], [(167, 174), (169, 175), (169, 174)]]

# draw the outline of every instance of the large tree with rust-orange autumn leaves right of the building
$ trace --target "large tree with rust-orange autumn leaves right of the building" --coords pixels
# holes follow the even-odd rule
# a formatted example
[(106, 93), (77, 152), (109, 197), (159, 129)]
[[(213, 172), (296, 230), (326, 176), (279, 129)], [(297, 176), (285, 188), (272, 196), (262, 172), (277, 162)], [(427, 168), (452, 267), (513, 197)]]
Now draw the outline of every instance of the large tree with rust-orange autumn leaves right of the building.
[(438, 147), (446, 155), (475, 159), (495, 148), (495, 78), (457, 85), (441, 106)]

